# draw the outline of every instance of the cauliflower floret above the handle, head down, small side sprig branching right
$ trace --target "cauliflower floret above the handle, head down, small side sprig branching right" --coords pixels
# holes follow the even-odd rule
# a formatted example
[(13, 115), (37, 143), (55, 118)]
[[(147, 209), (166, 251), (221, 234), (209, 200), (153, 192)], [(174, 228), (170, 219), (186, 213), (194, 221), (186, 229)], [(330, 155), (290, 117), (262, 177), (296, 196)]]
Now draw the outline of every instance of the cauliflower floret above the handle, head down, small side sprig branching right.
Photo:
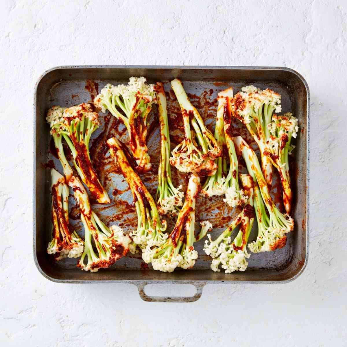
[(142, 259), (146, 263), (151, 262), (154, 270), (172, 272), (177, 267), (190, 269), (194, 266), (198, 255), (193, 244), (212, 228), (210, 222), (204, 221), (200, 233), (195, 236), (195, 202), (199, 189), (200, 177), (193, 173), (189, 178), (185, 202), (168, 239), (159, 247), (148, 245), (143, 250)]

